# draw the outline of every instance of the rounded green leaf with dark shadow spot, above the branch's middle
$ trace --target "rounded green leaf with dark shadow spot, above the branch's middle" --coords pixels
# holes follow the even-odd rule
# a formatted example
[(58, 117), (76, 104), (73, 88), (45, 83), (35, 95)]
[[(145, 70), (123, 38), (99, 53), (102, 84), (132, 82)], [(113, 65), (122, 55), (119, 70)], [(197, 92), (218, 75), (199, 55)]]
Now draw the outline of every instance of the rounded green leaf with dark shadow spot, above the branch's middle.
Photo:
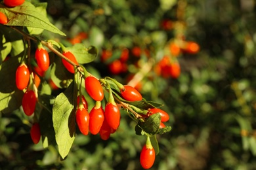
[(67, 50), (70, 50), (74, 54), (78, 63), (85, 64), (91, 63), (96, 56), (98, 55), (98, 50), (95, 46), (85, 47), (84, 44), (74, 44), (74, 46), (68, 47)]

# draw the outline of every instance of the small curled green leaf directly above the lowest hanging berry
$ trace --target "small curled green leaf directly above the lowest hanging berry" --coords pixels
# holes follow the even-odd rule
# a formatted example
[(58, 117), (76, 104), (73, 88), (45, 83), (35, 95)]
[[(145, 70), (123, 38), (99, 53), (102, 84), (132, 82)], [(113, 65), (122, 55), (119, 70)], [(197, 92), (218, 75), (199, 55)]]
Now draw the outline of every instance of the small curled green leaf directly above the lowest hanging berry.
[(153, 136), (158, 133), (160, 122), (161, 116), (159, 113), (156, 113), (149, 116), (145, 122), (139, 122), (139, 126), (147, 133), (147, 135)]

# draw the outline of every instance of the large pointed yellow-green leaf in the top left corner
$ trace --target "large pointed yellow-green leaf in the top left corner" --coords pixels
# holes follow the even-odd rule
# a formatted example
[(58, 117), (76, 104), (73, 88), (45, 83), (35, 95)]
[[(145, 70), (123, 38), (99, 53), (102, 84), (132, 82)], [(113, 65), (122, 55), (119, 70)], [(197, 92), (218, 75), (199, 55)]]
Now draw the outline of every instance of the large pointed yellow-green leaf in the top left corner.
[(0, 12), (3, 12), (9, 20), (6, 25), (35, 27), (51, 31), (53, 33), (58, 33), (60, 35), (66, 35), (60, 31), (60, 29), (51, 24), (49, 19), (41, 14), (41, 11), (28, 1), (25, 1), (22, 5), (13, 8), (0, 7)]

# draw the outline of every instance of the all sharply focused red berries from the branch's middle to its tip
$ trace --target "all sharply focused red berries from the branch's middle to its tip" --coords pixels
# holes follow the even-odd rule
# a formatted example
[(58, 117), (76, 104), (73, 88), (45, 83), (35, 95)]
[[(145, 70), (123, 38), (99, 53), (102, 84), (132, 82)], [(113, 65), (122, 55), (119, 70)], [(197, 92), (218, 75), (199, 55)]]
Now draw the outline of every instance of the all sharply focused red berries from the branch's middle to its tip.
[[(110, 78), (110, 80), (113, 80)], [(102, 85), (100, 84), (102, 82)], [(105, 83), (105, 84), (104, 84)], [(114, 80), (114, 83), (119, 88), (119, 95), (125, 101), (133, 102), (133, 101), (141, 101), (142, 95), (133, 87), (128, 85), (119, 84)], [(94, 76), (87, 76), (85, 78), (85, 90), (89, 95), (95, 99), (96, 103), (93, 109), (88, 113), (87, 108), (88, 104), (83, 95), (77, 96), (77, 111), (76, 111), (76, 122), (79, 130), (83, 135), (88, 135), (89, 132), (91, 134), (96, 135), (100, 134), (100, 138), (103, 140), (109, 139), (112, 133), (115, 133), (120, 124), (120, 112), (119, 107), (117, 107), (117, 103), (115, 102), (114, 96), (112, 94), (111, 88), (109, 90), (109, 98), (106, 103), (105, 109), (103, 109), (101, 105), (101, 101), (104, 98), (103, 88), (102, 86), (107, 85), (106, 87), (110, 87), (106, 80), (97, 80)], [(165, 124), (163, 122), (167, 122), (169, 120), (169, 115), (167, 112), (158, 109), (152, 108), (145, 110), (145, 114), (141, 114), (142, 118), (147, 119), (152, 116), (152, 114), (159, 113), (161, 116), (160, 128), (164, 128)], [(150, 143), (150, 138), (147, 137), (146, 144), (142, 147), (140, 153), (140, 163), (144, 169), (149, 169), (154, 164), (155, 160), (155, 150)]]

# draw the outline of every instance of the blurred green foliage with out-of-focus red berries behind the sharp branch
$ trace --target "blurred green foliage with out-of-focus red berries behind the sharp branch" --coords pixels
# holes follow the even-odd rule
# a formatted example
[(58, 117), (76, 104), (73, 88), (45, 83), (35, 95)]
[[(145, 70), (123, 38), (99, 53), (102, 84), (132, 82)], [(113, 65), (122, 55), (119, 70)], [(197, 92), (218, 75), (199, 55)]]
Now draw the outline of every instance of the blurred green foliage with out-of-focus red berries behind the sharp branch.
[[(96, 46), (98, 57), (86, 65), (91, 73), (124, 84), (140, 73), (133, 85), (147, 100), (164, 104), (171, 117), (166, 125), (173, 129), (158, 136), (160, 154), (152, 169), (256, 166), (255, 1), (41, 2), (48, 3), (51, 22), (67, 34), (45, 31), (41, 38)], [(196, 42), (199, 52), (184, 51), (188, 41)], [(172, 42), (181, 51), (169, 50)], [(139, 47), (139, 57), (134, 47)], [(123, 49), (129, 51), (128, 59), (121, 59)], [(164, 56), (179, 63), (177, 78), (156, 69)], [(65, 160), (56, 146), (43, 149), (32, 143), (31, 125), (20, 110), (0, 118), (0, 169), (141, 169), (146, 138), (135, 135), (135, 122), (125, 112), (108, 141), (77, 133)]]

